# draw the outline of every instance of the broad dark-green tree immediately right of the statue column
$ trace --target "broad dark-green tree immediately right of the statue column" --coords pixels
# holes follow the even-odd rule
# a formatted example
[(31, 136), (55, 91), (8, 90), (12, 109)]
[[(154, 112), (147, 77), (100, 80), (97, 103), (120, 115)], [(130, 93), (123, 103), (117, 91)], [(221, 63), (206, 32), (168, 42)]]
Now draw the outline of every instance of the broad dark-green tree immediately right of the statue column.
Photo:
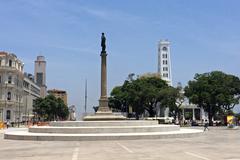
[(112, 108), (127, 109), (133, 107), (136, 118), (147, 111), (150, 116), (156, 114), (157, 95), (168, 85), (159, 76), (147, 75), (137, 79), (128, 78), (122, 86), (115, 87), (109, 98)]

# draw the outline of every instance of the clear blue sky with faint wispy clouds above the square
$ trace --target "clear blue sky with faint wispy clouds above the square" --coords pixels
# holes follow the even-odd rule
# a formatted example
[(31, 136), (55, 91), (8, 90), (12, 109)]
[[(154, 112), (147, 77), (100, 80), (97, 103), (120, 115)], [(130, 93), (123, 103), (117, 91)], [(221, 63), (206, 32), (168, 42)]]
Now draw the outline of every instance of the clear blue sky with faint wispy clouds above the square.
[(85, 79), (89, 111), (98, 105), (101, 32), (109, 93), (129, 73), (157, 71), (161, 39), (171, 42), (174, 84), (213, 70), (240, 76), (238, 0), (0, 0), (0, 6), (0, 50), (15, 53), (30, 73), (44, 55), (48, 89), (67, 90), (79, 110)]

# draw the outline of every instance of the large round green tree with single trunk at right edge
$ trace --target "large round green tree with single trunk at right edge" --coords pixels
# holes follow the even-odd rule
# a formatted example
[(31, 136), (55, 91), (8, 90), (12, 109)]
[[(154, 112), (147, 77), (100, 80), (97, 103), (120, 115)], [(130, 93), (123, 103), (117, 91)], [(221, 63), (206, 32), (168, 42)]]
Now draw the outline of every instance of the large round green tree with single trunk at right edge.
[(217, 112), (230, 110), (239, 103), (240, 80), (220, 71), (196, 74), (185, 87), (185, 95), (191, 103), (207, 111), (212, 125), (212, 118)]

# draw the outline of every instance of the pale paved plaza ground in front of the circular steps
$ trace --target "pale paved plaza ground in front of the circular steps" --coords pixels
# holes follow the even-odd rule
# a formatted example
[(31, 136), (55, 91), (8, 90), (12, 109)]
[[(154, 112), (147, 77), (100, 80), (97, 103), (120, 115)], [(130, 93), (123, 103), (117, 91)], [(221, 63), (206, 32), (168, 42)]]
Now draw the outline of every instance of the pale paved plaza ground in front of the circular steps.
[(240, 130), (225, 127), (195, 138), (96, 142), (4, 140), (0, 132), (0, 160), (240, 160), (239, 146)]

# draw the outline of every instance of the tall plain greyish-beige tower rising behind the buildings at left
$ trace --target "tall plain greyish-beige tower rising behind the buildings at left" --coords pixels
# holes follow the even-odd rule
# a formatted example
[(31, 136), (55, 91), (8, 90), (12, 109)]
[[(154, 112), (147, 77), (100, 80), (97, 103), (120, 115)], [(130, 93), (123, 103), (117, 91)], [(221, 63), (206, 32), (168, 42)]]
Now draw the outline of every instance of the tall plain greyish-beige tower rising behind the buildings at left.
[(47, 95), (47, 85), (46, 85), (46, 61), (44, 56), (37, 56), (35, 61), (35, 83), (41, 88), (41, 97), (46, 97)]

